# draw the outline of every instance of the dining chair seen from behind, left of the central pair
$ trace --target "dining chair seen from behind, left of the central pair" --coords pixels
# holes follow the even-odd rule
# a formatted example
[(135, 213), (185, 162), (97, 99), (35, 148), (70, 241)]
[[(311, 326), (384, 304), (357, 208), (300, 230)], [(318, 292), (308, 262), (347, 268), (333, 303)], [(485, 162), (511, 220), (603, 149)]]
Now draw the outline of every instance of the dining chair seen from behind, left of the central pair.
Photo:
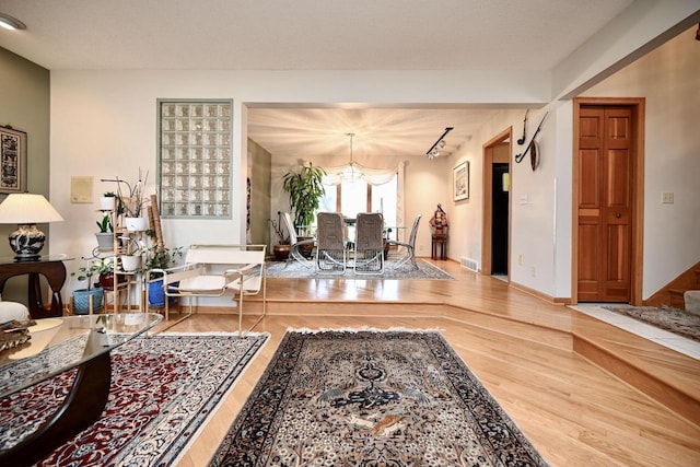
[(341, 275), (346, 271), (345, 222), (339, 212), (319, 212), (316, 235), (316, 271)]

